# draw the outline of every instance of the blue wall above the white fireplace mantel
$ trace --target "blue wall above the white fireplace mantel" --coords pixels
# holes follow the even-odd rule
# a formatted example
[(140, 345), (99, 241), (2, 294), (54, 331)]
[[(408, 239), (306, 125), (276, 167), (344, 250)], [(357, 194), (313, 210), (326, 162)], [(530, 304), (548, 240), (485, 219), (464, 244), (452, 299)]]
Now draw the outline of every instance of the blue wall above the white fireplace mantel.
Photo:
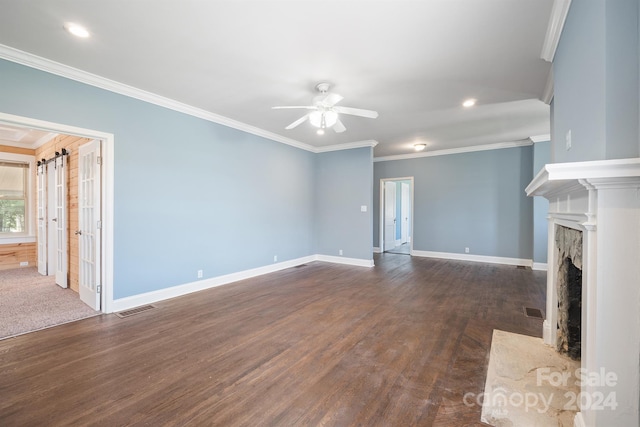
[(571, 3), (553, 63), (554, 162), (640, 155), (638, 20), (638, 0)]

